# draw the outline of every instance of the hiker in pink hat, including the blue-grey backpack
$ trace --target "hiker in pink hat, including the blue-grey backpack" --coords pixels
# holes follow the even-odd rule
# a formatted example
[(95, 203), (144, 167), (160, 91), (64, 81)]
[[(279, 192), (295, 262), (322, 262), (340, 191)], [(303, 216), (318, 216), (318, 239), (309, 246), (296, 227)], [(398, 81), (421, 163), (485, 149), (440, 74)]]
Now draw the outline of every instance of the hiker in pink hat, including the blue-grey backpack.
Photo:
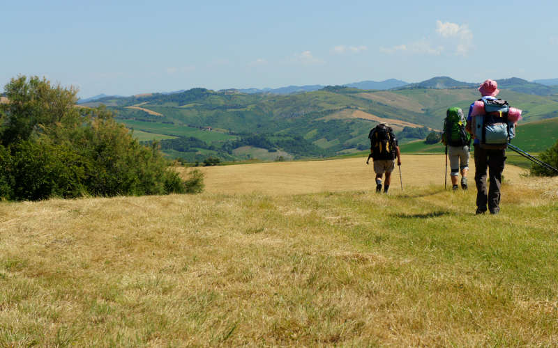
[[(474, 138), (476, 212), (498, 214), (500, 187), (506, 161), (506, 147), (515, 136), (515, 122), (508, 120), (508, 103), (497, 100), (500, 92), (494, 80), (486, 80), (478, 88), (481, 99), (471, 104), (467, 116), (467, 132)], [(486, 170), (490, 177), (487, 191)]]

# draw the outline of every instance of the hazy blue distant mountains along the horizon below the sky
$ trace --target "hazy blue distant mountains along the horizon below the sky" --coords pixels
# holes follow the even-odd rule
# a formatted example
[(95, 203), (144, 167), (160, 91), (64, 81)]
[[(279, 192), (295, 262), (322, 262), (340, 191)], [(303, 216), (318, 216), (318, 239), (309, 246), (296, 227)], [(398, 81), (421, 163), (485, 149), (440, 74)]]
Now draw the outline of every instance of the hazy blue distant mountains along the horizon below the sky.
[[(556, 95), (558, 94), (558, 79), (539, 79), (535, 81), (527, 81), (518, 77), (510, 79), (498, 79), (498, 87), (500, 89), (513, 90), (515, 92), (527, 93), (531, 95)], [(432, 77), (425, 81), (409, 84), (398, 79), (387, 79), (384, 81), (361, 81), (352, 84), (344, 84), (342, 86), (349, 88), (358, 88), (361, 90), (398, 90), (410, 88), (434, 88), (434, 89), (451, 89), (451, 88), (477, 88), (478, 82), (463, 82), (452, 79), (451, 77)], [(256, 94), (269, 93), (277, 95), (289, 95), (293, 93), (306, 93), (326, 88), (323, 85), (305, 85), (305, 86), (286, 86), (280, 88), (243, 88), (243, 89), (227, 89), (227, 91), (238, 91), (240, 93)], [(173, 92), (156, 93), (161, 95), (170, 95), (175, 93), (183, 93), (186, 90), (177, 90)], [(224, 90), (223, 90), (224, 91)], [(101, 100), (107, 97), (120, 98), (120, 95), (100, 94), (94, 97), (81, 99), (78, 104), (86, 104), (95, 100)]]

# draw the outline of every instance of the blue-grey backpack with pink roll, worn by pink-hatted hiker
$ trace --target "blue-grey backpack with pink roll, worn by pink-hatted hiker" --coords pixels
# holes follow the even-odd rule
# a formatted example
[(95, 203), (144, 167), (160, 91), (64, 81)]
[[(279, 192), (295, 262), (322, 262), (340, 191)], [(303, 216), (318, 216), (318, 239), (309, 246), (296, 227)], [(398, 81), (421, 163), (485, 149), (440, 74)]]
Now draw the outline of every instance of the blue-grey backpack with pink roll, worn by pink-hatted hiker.
[(472, 117), (472, 129), (481, 148), (505, 149), (515, 137), (515, 124), (508, 120), (510, 106), (505, 100), (480, 99), (484, 115)]

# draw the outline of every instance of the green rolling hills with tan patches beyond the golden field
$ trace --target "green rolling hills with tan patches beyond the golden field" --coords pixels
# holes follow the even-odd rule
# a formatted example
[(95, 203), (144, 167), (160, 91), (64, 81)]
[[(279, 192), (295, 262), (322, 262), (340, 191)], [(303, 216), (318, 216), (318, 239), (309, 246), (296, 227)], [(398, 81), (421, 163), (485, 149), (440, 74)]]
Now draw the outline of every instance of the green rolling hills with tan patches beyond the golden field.
[[(512, 86), (520, 79), (508, 80)], [(425, 87), (442, 83), (453, 87)], [(389, 122), (402, 143), (423, 138), (426, 128), (442, 127), (448, 106), (459, 106), (467, 113), (469, 104), (478, 99), (476, 86), (463, 87), (469, 85), (453, 79), (435, 78), (423, 85), (393, 90), (327, 86), (290, 95), (194, 88), (173, 94), (106, 97), (83, 105), (107, 105), (116, 111), (119, 122), (139, 131), (142, 139), (149, 139), (146, 133), (163, 139), (167, 155), (186, 161), (203, 161), (210, 155), (227, 161), (254, 156), (300, 159), (365, 150), (368, 131), (377, 122)], [(499, 97), (523, 110), (522, 122), (558, 116), (558, 97), (509, 89), (502, 89)], [(411, 131), (421, 127), (426, 128)], [(185, 138), (189, 137), (202, 142), (188, 148)], [(247, 146), (253, 150), (235, 150)]]

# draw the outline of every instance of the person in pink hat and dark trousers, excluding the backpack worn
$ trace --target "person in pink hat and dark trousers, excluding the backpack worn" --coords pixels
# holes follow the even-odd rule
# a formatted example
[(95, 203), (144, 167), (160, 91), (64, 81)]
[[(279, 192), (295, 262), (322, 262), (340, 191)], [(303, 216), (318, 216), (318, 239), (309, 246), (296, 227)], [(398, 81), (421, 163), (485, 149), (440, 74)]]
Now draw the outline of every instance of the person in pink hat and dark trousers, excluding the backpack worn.
[[(500, 93), (498, 84), (494, 80), (486, 80), (479, 87), (478, 92), (481, 93), (479, 101), (496, 100), (496, 96)], [(467, 117), (467, 132), (474, 138), (472, 129), (472, 115), (475, 103), (469, 107), (469, 116)], [(474, 139), (474, 159), (475, 159), (475, 184), (476, 184), (476, 212), (475, 214), (484, 214), (487, 210), (490, 214), (498, 214), (500, 211), (500, 187), (502, 185), (502, 172), (504, 171), (504, 163), (506, 161), (506, 148), (485, 148), (481, 146), (479, 139)], [(486, 171), (490, 177), (490, 187), (487, 189)]]

